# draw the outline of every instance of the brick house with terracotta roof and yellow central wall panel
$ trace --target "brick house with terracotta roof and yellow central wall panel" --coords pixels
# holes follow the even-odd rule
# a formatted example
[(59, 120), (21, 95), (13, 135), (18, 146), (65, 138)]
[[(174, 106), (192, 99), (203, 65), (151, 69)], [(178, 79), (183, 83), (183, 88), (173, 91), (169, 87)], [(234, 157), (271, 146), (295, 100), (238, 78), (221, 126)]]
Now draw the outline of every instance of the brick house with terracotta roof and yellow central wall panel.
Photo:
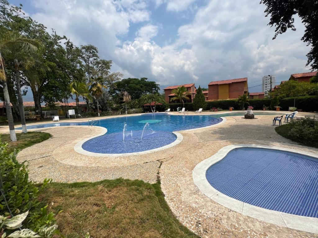
[(208, 86), (208, 100), (238, 98), (248, 92), (247, 78), (212, 81)]

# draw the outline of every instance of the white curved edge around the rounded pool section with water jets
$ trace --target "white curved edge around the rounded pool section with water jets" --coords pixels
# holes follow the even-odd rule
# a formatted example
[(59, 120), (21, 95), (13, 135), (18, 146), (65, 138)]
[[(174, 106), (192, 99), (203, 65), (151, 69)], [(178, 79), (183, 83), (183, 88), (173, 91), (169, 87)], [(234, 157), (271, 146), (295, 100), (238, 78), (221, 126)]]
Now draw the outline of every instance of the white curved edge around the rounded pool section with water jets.
[[(106, 129), (104, 127), (100, 127), (100, 128), (103, 128), (103, 129)], [(105, 130), (102, 131), (102, 133), (100, 133), (99, 135), (95, 135), (95, 136), (91, 136), (89, 138), (86, 138), (84, 140), (81, 140), (80, 142), (78, 142), (75, 146), (74, 146), (74, 150), (77, 152), (77, 153), (80, 153), (82, 155), (89, 155), (89, 156), (96, 156), (96, 157), (124, 157), (124, 156), (131, 156), (131, 155), (144, 155), (144, 154), (149, 154), (149, 153), (153, 153), (153, 152), (156, 152), (156, 151), (160, 151), (160, 150), (163, 150), (163, 149), (168, 149), (168, 148), (171, 148), (177, 144), (179, 144), (182, 140), (183, 140), (183, 136), (179, 133), (179, 132), (172, 132), (173, 134), (176, 135), (176, 140), (168, 145), (165, 145), (165, 146), (162, 146), (162, 147), (158, 147), (156, 149), (149, 149), (149, 150), (145, 150), (145, 151), (141, 151), (141, 152), (134, 152), (134, 153), (122, 153), (122, 154), (103, 154), (103, 153), (94, 153), (94, 152), (90, 152), (90, 151), (87, 151), (85, 149), (82, 148), (82, 145), (95, 138), (95, 137), (99, 137), (99, 136), (102, 136), (104, 135), (106, 132), (107, 132), (107, 129), (106, 131), (104, 132)]]

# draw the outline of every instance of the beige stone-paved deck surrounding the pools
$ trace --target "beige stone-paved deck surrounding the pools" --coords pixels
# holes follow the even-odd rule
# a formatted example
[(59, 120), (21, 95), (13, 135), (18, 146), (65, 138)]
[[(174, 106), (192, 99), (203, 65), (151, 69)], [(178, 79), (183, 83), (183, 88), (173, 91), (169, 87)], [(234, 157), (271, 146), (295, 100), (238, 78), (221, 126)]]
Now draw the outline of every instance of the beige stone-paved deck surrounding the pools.
[[(230, 144), (280, 145), (318, 153), (317, 149), (279, 136), (271, 126), (273, 116), (256, 117), (258, 119), (254, 120), (227, 117), (225, 123), (215, 127), (181, 131), (183, 141), (172, 148), (146, 155), (111, 158), (81, 155), (73, 149), (80, 140), (100, 133), (98, 127), (36, 129), (49, 132), (53, 137), (22, 150), (18, 160), (29, 160), (30, 178), (39, 182), (45, 177), (59, 182), (124, 177), (153, 183), (159, 170), (169, 207), (181, 223), (203, 237), (318, 237), (232, 211), (206, 197), (195, 186), (192, 170), (197, 163)], [(6, 130), (0, 129), (2, 133)]]

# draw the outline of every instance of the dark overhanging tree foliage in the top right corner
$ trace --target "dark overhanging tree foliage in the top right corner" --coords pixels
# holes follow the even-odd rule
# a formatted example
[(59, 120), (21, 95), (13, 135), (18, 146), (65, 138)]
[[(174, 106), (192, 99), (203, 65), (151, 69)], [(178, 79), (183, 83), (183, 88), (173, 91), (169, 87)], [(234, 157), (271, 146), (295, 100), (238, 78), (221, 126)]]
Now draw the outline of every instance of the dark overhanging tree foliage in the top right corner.
[(294, 15), (298, 14), (306, 28), (301, 40), (311, 45), (306, 66), (310, 64), (312, 69), (318, 69), (318, 2), (316, 0), (261, 0), (260, 3), (266, 5), (266, 17), (271, 16), (268, 25), (276, 27), (273, 39), (286, 32), (288, 28), (296, 30)]

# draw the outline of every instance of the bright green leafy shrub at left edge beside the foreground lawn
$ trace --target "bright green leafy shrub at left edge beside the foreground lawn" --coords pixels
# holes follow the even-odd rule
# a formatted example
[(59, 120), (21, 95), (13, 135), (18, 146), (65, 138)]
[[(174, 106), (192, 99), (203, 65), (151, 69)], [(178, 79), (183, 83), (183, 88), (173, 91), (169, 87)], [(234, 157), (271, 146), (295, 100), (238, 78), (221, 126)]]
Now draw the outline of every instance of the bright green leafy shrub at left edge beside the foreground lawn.
[(16, 160), (17, 150), (8, 153), (7, 145), (0, 142), (1, 213), (15, 216), (29, 211), (23, 228), (31, 228), (34, 231), (38, 231), (44, 225), (54, 224), (54, 214), (48, 213), (47, 206), (38, 201), (39, 192), (50, 180), (45, 179), (40, 186), (29, 181), (27, 165)]

